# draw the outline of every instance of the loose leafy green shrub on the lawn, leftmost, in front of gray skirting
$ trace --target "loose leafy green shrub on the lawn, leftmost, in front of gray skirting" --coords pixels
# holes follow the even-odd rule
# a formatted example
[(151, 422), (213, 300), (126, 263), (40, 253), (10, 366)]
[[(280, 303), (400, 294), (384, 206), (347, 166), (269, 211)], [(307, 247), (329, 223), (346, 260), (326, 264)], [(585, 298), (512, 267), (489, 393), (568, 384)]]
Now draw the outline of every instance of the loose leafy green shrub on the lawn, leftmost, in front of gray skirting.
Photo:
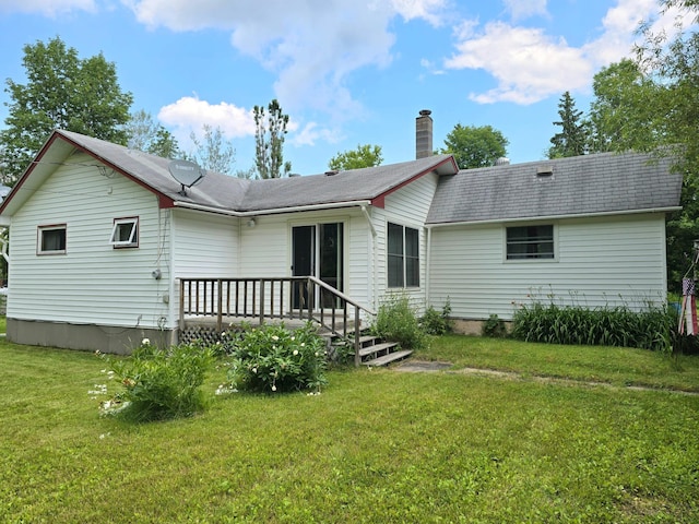
[(108, 361), (123, 389), (103, 403), (105, 414), (149, 421), (189, 417), (206, 406), (201, 385), (213, 361), (206, 347), (181, 344), (161, 349), (144, 338), (131, 356)]

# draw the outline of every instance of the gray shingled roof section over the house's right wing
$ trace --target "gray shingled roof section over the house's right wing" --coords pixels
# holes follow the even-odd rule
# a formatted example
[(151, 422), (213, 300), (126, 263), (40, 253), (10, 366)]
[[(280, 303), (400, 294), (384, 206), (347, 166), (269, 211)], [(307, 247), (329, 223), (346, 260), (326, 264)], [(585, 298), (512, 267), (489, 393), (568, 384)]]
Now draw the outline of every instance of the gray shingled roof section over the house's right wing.
[[(441, 177), (429, 224), (667, 210), (679, 205), (682, 175), (671, 159), (605, 153), (461, 170)], [(552, 175), (538, 177), (549, 168)]]

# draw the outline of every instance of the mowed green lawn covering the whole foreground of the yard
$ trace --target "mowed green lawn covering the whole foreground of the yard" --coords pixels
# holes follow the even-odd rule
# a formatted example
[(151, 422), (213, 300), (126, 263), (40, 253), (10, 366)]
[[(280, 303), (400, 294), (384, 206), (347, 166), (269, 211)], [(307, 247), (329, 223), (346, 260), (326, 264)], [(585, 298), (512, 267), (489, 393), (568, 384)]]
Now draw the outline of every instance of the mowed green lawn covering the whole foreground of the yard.
[[(596, 369), (589, 348), (442, 342), (430, 356), (460, 366), (562, 373), (550, 349), (572, 376)], [(650, 366), (618, 354), (615, 381)], [(699, 521), (697, 395), (352, 369), (319, 396), (129, 425), (98, 417), (92, 355), (0, 342), (0, 522)], [(696, 377), (699, 359), (683, 365)]]

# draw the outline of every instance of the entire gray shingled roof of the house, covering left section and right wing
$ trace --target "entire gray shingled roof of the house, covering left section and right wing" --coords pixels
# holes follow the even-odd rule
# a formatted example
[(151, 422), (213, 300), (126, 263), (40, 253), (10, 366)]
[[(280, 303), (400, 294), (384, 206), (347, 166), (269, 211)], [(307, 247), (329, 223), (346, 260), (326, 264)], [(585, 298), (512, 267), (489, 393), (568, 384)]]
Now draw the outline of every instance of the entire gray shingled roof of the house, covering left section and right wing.
[[(40, 153), (47, 162), (35, 164), (15, 184), (0, 207), (3, 215), (5, 211), (12, 214), (33, 191), (33, 184), (23, 189), (25, 178), (33, 170), (39, 180), (48, 176), (52, 162), (69, 154), (68, 144), (91, 152), (177, 205), (234, 213), (375, 201), (430, 171), (441, 176), (428, 224), (668, 210), (679, 204), (682, 188), (682, 176), (671, 172), (670, 158), (652, 160), (644, 154), (608, 153), (459, 172), (451, 155), (437, 155), (331, 176), (273, 180), (244, 180), (210, 171), (182, 195), (180, 184), (169, 174), (169, 160), (79, 133), (57, 131)], [(542, 166), (549, 168), (552, 175), (537, 177)]]

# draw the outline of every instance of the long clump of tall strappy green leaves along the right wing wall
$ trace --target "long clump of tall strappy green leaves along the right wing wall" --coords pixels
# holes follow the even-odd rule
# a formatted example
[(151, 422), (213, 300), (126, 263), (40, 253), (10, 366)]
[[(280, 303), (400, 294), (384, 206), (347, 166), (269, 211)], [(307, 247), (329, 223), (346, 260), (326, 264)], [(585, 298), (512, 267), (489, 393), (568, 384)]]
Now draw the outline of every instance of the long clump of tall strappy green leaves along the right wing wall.
[(632, 311), (625, 306), (590, 309), (535, 301), (514, 313), (511, 335), (525, 342), (672, 352), (676, 326), (677, 313), (667, 307)]

